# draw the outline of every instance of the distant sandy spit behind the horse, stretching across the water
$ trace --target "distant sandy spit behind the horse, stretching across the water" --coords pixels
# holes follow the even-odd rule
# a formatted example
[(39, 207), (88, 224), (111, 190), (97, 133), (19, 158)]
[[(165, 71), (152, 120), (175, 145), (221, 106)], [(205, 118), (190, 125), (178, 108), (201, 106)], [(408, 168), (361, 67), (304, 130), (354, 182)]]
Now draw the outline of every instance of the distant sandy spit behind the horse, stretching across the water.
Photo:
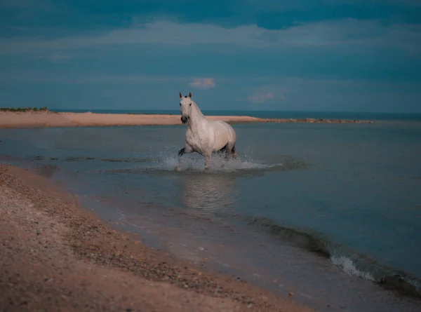
[[(373, 123), (373, 121), (257, 118), (251, 116), (206, 116), (227, 123)], [(0, 128), (83, 127), (83, 126), (166, 126), (180, 125), (180, 116), (169, 114), (96, 114), (51, 111), (0, 111)]]

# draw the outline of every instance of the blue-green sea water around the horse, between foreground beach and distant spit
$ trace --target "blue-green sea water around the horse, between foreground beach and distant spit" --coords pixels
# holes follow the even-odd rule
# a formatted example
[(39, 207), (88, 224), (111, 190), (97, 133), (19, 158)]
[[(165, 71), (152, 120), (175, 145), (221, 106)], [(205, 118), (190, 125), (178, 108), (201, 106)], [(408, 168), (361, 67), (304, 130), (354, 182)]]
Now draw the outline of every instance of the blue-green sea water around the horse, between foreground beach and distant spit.
[(184, 126), (1, 130), (0, 154), (196, 264), (328, 311), (420, 308), (371, 282), (420, 287), (420, 123), (234, 128), (239, 160), (210, 172), (194, 154), (174, 170)]

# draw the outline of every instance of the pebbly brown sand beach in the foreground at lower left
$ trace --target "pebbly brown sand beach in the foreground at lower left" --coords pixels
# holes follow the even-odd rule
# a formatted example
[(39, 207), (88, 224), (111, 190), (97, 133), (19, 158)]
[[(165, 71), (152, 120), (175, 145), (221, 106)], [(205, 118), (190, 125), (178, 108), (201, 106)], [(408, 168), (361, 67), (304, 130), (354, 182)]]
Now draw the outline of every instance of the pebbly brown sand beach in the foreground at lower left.
[(140, 239), (46, 177), (0, 164), (0, 311), (314, 311)]

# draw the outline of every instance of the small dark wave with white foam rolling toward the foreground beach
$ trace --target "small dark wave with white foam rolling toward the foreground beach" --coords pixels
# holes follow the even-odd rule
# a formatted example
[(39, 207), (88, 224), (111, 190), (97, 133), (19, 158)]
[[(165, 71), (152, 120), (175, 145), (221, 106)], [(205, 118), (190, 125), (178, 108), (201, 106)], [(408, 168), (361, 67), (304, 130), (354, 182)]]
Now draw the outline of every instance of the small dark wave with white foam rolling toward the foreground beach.
[(370, 280), (387, 290), (421, 297), (421, 279), (413, 274), (383, 264), (368, 255), (335, 243), (321, 233), (308, 229), (295, 229), (284, 224), (276, 224), (265, 217), (248, 217), (249, 225), (260, 226), (276, 238), (287, 240), (311, 252), (317, 252), (330, 259), (345, 273)]

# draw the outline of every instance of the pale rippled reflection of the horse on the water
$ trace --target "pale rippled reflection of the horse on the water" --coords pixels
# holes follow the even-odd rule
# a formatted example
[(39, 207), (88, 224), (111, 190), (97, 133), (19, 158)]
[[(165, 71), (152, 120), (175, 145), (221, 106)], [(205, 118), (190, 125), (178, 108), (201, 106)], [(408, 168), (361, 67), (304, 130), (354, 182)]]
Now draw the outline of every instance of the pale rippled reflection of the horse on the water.
[(206, 212), (222, 212), (235, 205), (238, 192), (229, 175), (192, 174), (182, 176), (182, 202)]

